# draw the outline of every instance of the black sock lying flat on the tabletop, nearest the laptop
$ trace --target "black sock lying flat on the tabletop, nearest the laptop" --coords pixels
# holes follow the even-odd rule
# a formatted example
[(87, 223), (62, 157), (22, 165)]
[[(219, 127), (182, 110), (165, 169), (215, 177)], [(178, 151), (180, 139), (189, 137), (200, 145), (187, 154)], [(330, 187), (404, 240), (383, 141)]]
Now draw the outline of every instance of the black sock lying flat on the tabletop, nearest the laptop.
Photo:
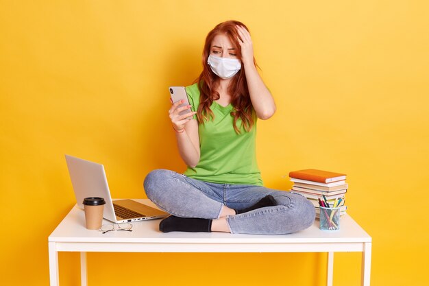
[(160, 230), (162, 233), (171, 231), (186, 231), (188, 233), (210, 233), (212, 228), (212, 219), (195, 219), (186, 217), (169, 217), (162, 219)]

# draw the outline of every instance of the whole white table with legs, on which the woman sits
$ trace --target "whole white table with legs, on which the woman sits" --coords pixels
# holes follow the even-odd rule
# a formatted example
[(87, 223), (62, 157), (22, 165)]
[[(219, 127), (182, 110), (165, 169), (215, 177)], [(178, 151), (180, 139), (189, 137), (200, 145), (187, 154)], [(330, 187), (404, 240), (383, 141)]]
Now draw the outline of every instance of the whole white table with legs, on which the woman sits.
[[(151, 204), (149, 200), (144, 201)], [(341, 217), (340, 230), (319, 230), (317, 220), (310, 228), (291, 235), (161, 233), (159, 222), (159, 219), (136, 222), (132, 232), (115, 230), (102, 234), (98, 230), (87, 230), (84, 211), (74, 206), (49, 235), (51, 286), (59, 285), (60, 251), (81, 253), (82, 285), (87, 285), (86, 252), (328, 252), (328, 286), (333, 283), (334, 252), (362, 252), (361, 285), (369, 286), (371, 237), (350, 215)]]

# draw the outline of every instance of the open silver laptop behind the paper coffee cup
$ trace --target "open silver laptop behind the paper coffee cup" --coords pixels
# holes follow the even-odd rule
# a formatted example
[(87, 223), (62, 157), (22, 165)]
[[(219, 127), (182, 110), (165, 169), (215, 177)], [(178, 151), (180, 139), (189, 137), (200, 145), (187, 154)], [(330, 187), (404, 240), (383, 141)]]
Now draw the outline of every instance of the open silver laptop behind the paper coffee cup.
[(79, 208), (84, 208), (82, 204), (84, 198), (104, 198), (106, 204), (103, 217), (117, 224), (158, 219), (169, 215), (134, 200), (112, 200), (103, 165), (69, 155), (66, 155), (66, 162)]

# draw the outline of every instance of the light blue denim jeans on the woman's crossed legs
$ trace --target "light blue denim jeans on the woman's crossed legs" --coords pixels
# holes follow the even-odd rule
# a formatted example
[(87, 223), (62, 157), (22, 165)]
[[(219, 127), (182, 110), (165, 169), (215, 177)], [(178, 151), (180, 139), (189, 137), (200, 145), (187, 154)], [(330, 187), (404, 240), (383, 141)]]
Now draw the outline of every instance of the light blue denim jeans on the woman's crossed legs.
[(227, 216), (231, 233), (284, 235), (308, 228), (315, 220), (315, 207), (303, 195), (253, 184), (204, 182), (156, 169), (146, 176), (144, 187), (152, 202), (177, 217), (217, 219), (223, 205), (243, 209), (266, 195), (275, 198), (276, 206)]

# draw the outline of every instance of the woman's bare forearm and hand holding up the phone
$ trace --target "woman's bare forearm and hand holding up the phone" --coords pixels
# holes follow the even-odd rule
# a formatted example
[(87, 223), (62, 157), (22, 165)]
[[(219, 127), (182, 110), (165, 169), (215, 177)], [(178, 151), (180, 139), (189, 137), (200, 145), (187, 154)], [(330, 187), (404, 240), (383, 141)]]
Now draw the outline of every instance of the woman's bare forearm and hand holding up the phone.
[(175, 130), (177, 148), (180, 157), (189, 167), (195, 167), (199, 162), (199, 136), (198, 122), (196, 119), (189, 119), (190, 115), (197, 112), (191, 112), (185, 115), (179, 115), (179, 112), (191, 108), (191, 106), (182, 106), (182, 101), (173, 104), (169, 110), (171, 123)]

